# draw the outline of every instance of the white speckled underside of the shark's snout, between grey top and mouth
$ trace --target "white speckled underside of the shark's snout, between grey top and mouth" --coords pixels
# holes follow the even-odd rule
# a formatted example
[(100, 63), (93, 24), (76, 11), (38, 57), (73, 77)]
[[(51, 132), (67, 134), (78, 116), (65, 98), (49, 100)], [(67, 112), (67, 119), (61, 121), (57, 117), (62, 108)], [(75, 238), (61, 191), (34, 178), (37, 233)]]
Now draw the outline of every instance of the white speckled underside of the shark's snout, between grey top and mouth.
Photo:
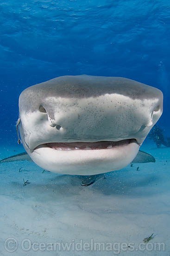
[(32, 121), (47, 142), (136, 139), (141, 144), (162, 108), (158, 99), (140, 101), (111, 94), (96, 99), (48, 99), (36, 113), (37, 121)]

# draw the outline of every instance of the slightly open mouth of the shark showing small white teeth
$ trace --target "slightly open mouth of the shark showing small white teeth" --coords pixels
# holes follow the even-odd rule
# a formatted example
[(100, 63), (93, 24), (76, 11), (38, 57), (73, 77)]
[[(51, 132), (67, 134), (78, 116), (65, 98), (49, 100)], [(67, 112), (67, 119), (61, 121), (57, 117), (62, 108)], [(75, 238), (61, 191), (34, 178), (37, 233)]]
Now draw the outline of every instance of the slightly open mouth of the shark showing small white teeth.
[(45, 145), (55, 150), (96, 150), (109, 149), (127, 146), (128, 144), (137, 141), (135, 139), (126, 139), (122, 141), (96, 141), (96, 142), (52, 142)]

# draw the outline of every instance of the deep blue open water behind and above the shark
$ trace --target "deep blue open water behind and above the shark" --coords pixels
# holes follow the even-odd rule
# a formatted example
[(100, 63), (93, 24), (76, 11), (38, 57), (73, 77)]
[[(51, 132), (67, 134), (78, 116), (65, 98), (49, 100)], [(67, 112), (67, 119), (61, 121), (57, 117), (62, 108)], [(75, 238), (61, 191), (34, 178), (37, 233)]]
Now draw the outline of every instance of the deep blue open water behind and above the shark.
[(0, 1), (0, 142), (16, 143), (18, 98), (61, 75), (123, 76), (161, 89), (170, 109), (168, 0)]

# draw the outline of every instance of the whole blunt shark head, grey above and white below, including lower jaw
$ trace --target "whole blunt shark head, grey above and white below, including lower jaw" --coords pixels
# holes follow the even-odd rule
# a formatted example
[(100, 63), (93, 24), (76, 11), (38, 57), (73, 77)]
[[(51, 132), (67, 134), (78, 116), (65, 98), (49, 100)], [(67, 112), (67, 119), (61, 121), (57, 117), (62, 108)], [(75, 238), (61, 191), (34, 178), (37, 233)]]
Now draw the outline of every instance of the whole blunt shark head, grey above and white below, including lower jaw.
[(40, 167), (94, 175), (124, 168), (163, 112), (157, 88), (122, 77), (62, 76), (19, 96), (19, 132)]

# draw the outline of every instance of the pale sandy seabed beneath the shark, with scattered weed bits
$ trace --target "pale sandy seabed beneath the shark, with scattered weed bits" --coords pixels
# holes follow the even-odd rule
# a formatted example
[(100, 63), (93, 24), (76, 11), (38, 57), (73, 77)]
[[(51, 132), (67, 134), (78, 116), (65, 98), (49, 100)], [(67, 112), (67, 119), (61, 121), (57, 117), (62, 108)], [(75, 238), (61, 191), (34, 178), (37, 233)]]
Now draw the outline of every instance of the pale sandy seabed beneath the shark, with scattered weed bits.
[[(0, 256), (170, 256), (170, 148), (141, 150), (156, 162), (89, 187), (31, 162), (0, 164)], [(1, 146), (0, 159), (23, 151)]]

